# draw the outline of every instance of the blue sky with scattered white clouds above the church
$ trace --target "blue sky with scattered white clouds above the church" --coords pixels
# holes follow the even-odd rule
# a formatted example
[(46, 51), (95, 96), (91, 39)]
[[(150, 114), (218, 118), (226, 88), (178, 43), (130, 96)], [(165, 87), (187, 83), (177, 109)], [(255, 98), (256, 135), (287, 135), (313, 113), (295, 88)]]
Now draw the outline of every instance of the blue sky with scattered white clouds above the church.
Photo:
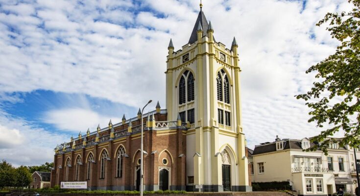
[[(243, 131), (254, 148), (321, 129), (294, 96), (305, 71), (339, 44), (327, 12), (347, 0), (203, 0), (216, 41), (239, 45)], [(52, 162), (54, 147), (159, 100), (165, 108), (168, 43), (188, 43), (199, 0), (0, 0), (0, 159)], [(337, 136), (341, 136), (341, 133)]]

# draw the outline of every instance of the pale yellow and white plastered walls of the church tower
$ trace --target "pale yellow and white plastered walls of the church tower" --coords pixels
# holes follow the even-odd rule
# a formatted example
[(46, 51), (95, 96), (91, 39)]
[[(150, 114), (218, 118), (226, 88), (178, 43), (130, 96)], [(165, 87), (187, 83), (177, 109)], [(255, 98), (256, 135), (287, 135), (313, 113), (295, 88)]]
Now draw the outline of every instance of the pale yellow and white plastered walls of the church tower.
[[(206, 30), (206, 29), (204, 29)], [(248, 186), (248, 162), (245, 156), (245, 136), (242, 133), (240, 100), (240, 67), (237, 46), (226, 49), (215, 42), (213, 30), (208, 36), (197, 31), (197, 41), (187, 44), (181, 50), (168, 48), (166, 73), (166, 108), (168, 120), (176, 121), (179, 112), (194, 108), (194, 123), (187, 135), (187, 185), (221, 185), (221, 150), (228, 147), (234, 157), (231, 164), (231, 186)], [(189, 55), (187, 61), (183, 56)], [(225, 55), (225, 60), (220, 59)], [(194, 101), (179, 104), (179, 81), (185, 70), (194, 76)], [(220, 70), (228, 76), (230, 104), (217, 100), (216, 76)], [(231, 126), (217, 122), (217, 109), (231, 113)], [(221, 137), (220, 137), (221, 136)], [(228, 143), (227, 141), (231, 141)], [(231, 150), (230, 150), (231, 149)], [(216, 156), (216, 154), (219, 154)], [(188, 182), (193, 176), (194, 183)]]

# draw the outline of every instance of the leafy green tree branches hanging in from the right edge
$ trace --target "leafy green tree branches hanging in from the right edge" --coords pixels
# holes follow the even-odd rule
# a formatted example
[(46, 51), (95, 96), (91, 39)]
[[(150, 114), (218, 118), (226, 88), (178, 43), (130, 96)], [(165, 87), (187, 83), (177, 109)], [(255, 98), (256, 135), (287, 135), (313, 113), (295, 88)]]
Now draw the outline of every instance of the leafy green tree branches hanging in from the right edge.
[[(311, 108), (309, 122), (327, 129), (312, 138), (327, 154), (332, 143), (343, 147), (360, 145), (360, 0), (348, 0), (354, 7), (348, 12), (327, 13), (316, 25), (330, 22), (327, 30), (341, 42), (335, 54), (313, 65), (306, 73), (316, 72), (319, 81), (313, 82), (311, 91), (296, 98), (306, 101)], [(327, 139), (339, 130), (345, 132), (341, 140)]]

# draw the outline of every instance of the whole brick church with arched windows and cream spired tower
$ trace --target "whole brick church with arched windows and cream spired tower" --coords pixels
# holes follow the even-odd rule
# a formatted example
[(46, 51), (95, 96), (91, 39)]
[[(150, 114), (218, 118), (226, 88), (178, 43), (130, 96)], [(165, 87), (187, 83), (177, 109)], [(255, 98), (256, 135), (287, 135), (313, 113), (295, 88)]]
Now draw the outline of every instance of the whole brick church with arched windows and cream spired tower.
[(242, 130), (238, 44), (217, 42), (202, 11), (189, 42), (168, 46), (166, 109), (97, 130), (55, 148), (51, 187), (139, 190), (144, 120), (144, 190), (251, 191)]

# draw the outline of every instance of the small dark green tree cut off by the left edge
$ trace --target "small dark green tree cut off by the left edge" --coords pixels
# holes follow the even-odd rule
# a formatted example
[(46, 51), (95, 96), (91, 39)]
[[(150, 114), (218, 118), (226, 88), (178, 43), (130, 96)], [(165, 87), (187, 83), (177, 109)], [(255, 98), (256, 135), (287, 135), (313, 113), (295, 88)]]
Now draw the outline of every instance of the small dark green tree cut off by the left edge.
[(15, 186), (15, 169), (5, 160), (0, 162), (0, 189)]

